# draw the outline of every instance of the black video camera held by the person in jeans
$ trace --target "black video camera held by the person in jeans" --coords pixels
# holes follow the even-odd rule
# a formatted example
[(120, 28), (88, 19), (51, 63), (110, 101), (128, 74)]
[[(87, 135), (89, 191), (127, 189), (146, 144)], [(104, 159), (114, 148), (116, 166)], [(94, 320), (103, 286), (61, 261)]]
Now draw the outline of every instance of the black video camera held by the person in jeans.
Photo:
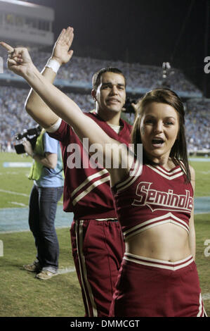
[[(22, 133), (18, 133), (17, 135), (15, 135), (15, 139), (21, 140), (22, 138), (26, 138), (32, 144), (32, 149), (34, 149), (37, 142), (37, 137), (39, 137), (40, 133), (41, 126), (37, 125), (36, 127), (32, 127), (31, 129), (24, 130)], [(14, 147), (17, 154), (25, 153), (23, 144), (16, 144)]]

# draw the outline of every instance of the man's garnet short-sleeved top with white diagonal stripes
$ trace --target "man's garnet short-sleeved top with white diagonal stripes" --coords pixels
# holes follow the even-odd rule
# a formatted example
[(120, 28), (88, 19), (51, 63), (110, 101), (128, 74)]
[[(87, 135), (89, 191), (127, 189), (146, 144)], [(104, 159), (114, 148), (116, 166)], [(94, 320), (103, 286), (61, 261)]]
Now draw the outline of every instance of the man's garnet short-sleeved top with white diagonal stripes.
[[(129, 144), (131, 125), (120, 120), (122, 130), (117, 135), (96, 113), (85, 113), (92, 118), (112, 139)], [(60, 141), (63, 155), (65, 185), (63, 209), (74, 213), (74, 218), (116, 218), (110, 175), (104, 168), (89, 163), (89, 155), (70, 125), (61, 122), (57, 131), (48, 135)], [(84, 141), (85, 142), (85, 141)], [(74, 163), (77, 167), (74, 166)]]

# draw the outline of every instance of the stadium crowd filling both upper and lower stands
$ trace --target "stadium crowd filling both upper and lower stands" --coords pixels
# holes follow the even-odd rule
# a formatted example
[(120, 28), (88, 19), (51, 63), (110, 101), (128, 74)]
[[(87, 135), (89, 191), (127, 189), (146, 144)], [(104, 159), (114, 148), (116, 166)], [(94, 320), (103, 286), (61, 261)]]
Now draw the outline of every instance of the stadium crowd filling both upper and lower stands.
[[(34, 64), (39, 70), (44, 68), (47, 59), (51, 56), (37, 49), (31, 50)], [(0, 56), (6, 63), (7, 54), (0, 49)], [(152, 89), (162, 83), (162, 67), (140, 65), (139, 63), (123, 63), (122, 61), (103, 61), (93, 58), (81, 58), (73, 56), (70, 63), (60, 68), (57, 78), (68, 82), (85, 82), (90, 84), (92, 75), (100, 68), (116, 66), (126, 75), (127, 87), (131, 89)], [(5, 66), (4, 66), (5, 67)], [(4, 68), (4, 73), (13, 75)], [(199, 89), (186, 80), (180, 70), (173, 69), (169, 73), (168, 82), (171, 89), (176, 92), (199, 92)], [(25, 99), (29, 89), (1, 86), (0, 89), (0, 150), (13, 151), (13, 145), (17, 143), (15, 135), (34, 127), (37, 123), (27, 115)], [(94, 102), (90, 94), (67, 93), (83, 111), (94, 108)], [(185, 103), (186, 111), (186, 135), (189, 151), (210, 149), (210, 101), (208, 99), (190, 99)], [(133, 114), (126, 114), (126, 118), (133, 123)]]

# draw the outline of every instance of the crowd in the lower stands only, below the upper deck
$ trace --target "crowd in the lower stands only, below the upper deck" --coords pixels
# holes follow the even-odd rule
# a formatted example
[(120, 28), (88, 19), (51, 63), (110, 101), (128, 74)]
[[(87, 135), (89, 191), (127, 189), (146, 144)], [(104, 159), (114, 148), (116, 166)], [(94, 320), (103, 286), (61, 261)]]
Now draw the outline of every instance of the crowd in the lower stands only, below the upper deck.
[[(1, 151), (13, 150), (15, 135), (34, 127), (37, 123), (25, 111), (25, 99), (29, 89), (1, 87), (0, 89), (0, 146)], [(89, 94), (67, 93), (82, 109), (91, 111), (94, 102)], [(189, 151), (210, 149), (210, 100), (190, 99), (185, 103), (186, 136)], [(134, 115), (126, 113), (133, 123)]]

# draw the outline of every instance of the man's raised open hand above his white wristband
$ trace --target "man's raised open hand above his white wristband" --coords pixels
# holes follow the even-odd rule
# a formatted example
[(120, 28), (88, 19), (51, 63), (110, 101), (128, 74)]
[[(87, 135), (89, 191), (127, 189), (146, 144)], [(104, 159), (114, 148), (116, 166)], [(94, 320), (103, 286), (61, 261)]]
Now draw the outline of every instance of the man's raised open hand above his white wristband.
[(73, 27), (67, 27), (63, 29), (53, 47), (53, 53), (51, 58), (54, 58), (60, 63), (60, 65), (70, 61), (73, 55), (73, 51), (70, 50), (74, 39)]

